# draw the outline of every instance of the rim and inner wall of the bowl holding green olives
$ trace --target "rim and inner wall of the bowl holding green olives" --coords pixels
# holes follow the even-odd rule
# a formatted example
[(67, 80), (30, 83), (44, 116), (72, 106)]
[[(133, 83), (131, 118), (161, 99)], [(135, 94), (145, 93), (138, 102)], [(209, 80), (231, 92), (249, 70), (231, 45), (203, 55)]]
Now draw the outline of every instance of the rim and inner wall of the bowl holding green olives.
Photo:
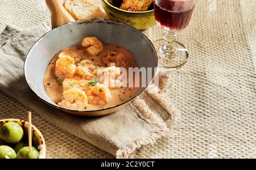
[[(28, 134), (28, 122), (19, 120), (19, 119), (4, 119), (0, 120), (0, 128), (6, 124), (7, 122), (16, 122), (20, 126), (22, 126), (22, 129), (24, 130), (24, 134)], [(40, 131), (32, 125), (32, 146), (35, 148), (40, 148), (39, 151), (39, 159), (45, 159), (46, 158), (46, 142), (44, 142), (44, 137)], [(40, 146), (40, 147), (39, 147)]]

